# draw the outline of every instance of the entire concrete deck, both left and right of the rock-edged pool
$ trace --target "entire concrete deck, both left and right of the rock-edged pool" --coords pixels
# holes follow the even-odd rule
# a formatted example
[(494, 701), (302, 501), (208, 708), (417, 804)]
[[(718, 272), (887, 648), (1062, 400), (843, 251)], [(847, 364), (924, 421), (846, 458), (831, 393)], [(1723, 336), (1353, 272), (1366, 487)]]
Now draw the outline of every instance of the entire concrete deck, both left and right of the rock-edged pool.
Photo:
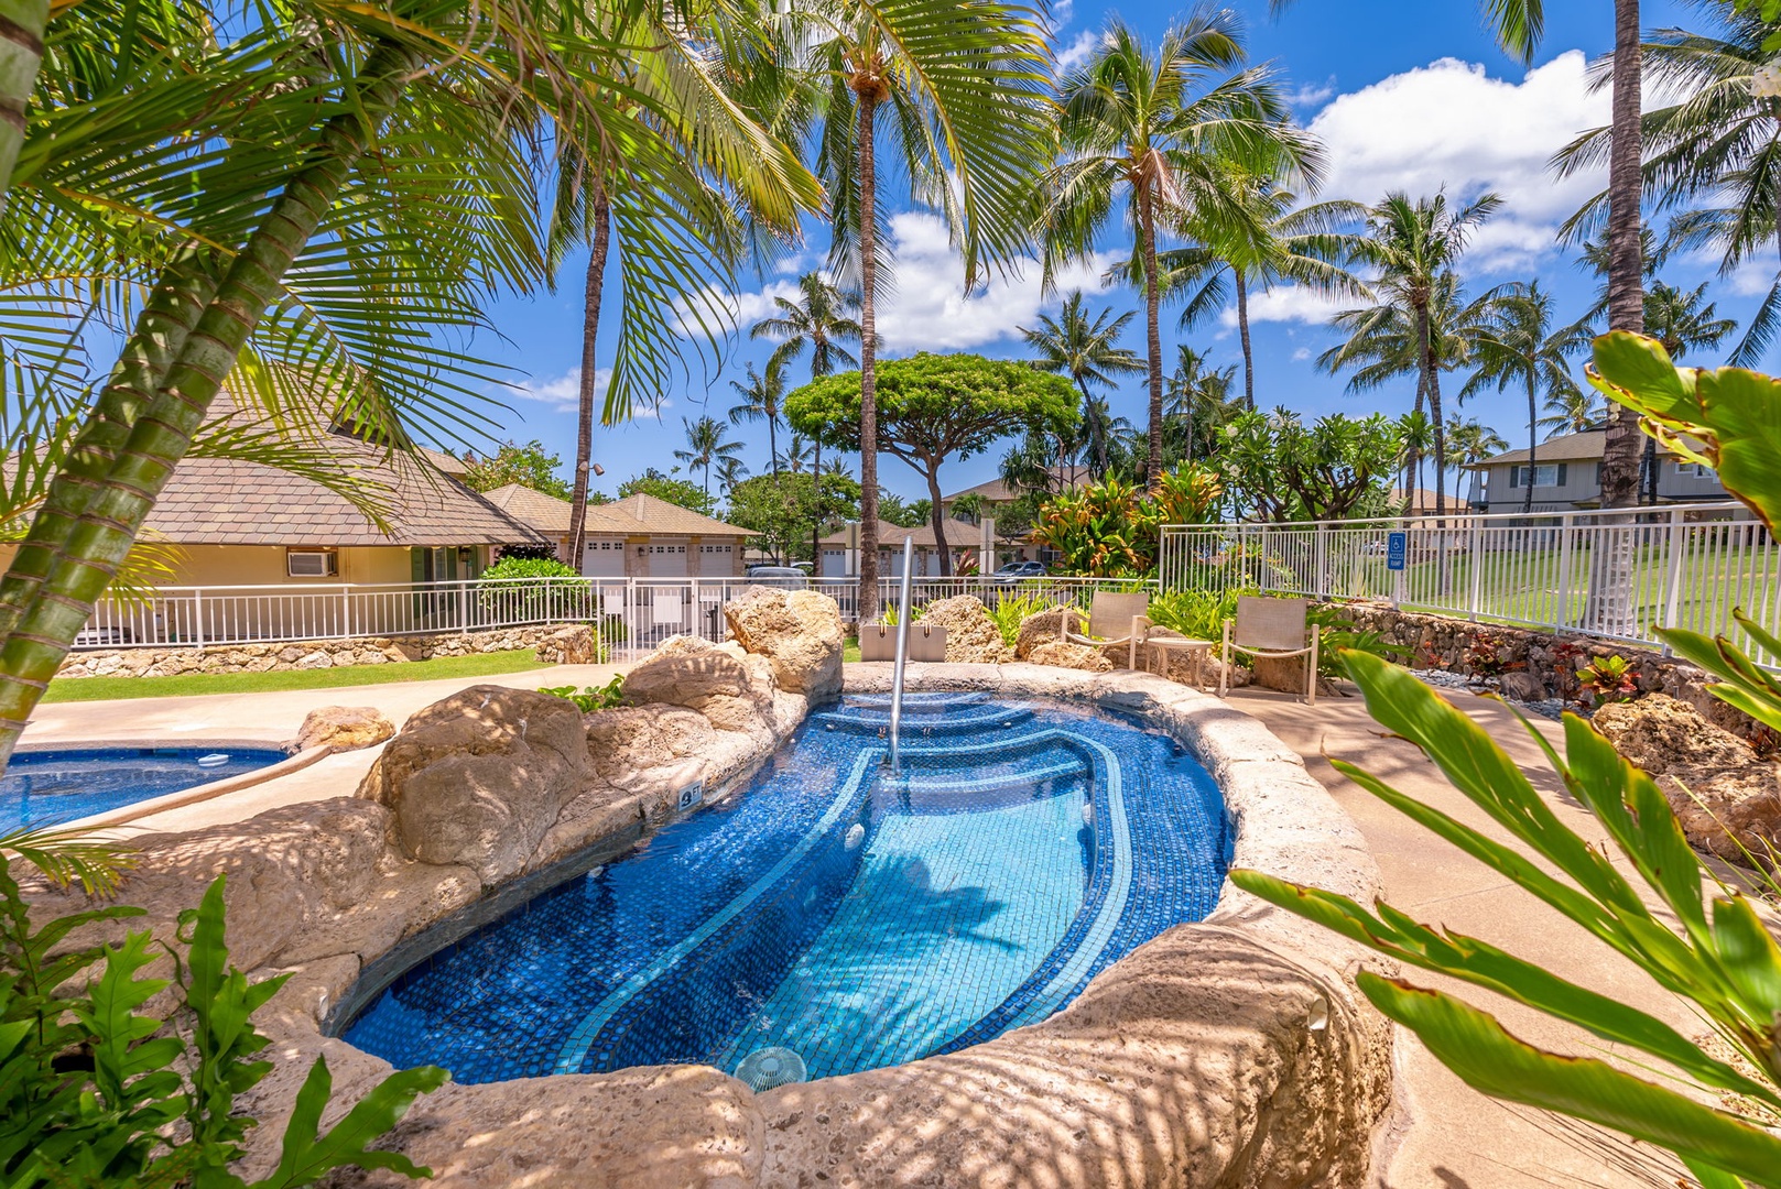
[[(151, 698), (132, 701), (59, 703), (41, 707), (25, 739), (34, 744), (107, 740), (166, 740), (194, 737), (262, 739), (283, 742), (296, 735), (303, 716), (326, 705), (372, 705), (397, 728), (415, 710), (459, 689), (497, 683), (520, 689), (540, 685), (600, 685), (625, 666), (565, 666), (484, 678), (290, 691), (267, 694), (216, 694)], [(1496, 701), (1450, 694), (1455, 705), (1485, 724), (1491, 735), (1533, 774), (1560, 819), (1598, 838), (1599, 828), (1587, 812), (1558, 790), (1544, 755), (1526, 737), (1514, 716)], [(1685, 1034), (1704, 1027), (1685, 1004), (1658, 990), (1630, 963), (1589, 940), (1532, 895), (1509, 885), (1455, 847), (1416, 828), (1384, 803), (1341, 778), (1323, 758), (1355, 760), (1396, 787), (1460, 821), (1505, 838), (1482, 812), (1466, 801), (1411, 744), (1384, 739), (1359, 698), (1322, 698), (1305, 707), (1289, 694), (1236, 691), (1231, 705), (1256, 716), (1305, 765), (1332, 797), (1354, 817), (1378, 861), (1386, 895), (1432, 924), (1473, 933), (1539, 959), (1578, 983), (1614, 995), (1672, 1023)], [(1541, 723), (1557, 737), (1557, 723)], [(121, 828), (119, 835), (148, 829), (196, 829), (219, 821), (333, 796), (349, 796), (381, 748), (333, 755), (278, 781), (233, 792)], [(1412, 981), (1450, 986), (1435, 975), (1411, 972)], [(1557, 1050), (1583, 1052), (1580, 1034), (1528, 1009), (1462, 988), (1464, 995), (1498, 1011), (1512, 1032)], [(1448, 1073), (1411, 1036), (1400, 1034), (1398, 1112), (1380, 1139), (1375, 1162), (1377, 1185), (1389, 1189), (1532, 1189), (1535, 1185), (1649, 1187), (1674, 1185), (1672, 1164), (1646, 1146), (1573, 1123), (1541, 1111), (1485, 1098)]]

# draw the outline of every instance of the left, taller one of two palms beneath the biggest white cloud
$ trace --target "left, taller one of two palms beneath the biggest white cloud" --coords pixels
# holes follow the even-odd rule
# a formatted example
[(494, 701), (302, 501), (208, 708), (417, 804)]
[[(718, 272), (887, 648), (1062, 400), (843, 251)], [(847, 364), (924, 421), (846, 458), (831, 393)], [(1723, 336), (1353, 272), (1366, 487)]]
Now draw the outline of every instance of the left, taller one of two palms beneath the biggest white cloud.
[[(1378, 271), (1373, 288), (1386, 308), (1402, 310), (1414, 333), (1418, 408), (1428, 402), (1428, 420), (1434, 425), (1435, 454), (1435, 509), (1446, 498), (1446, 424), (1441, 413), (1439, 328), (1437, 303), (1443, 283), (1453, 287), (1457, 308), (1457, 281), (1453, 265), (1466, 251), (1473, 230), (1503, 205), (1496, 194), (1484, 194), (1462, 206), (1450, 206), (1446, 194), (1411, 199), (1407, 194), (1387, 194), (1368, 212), (1368, 235), (1357, 244), (1361, 260)], [(1455, 328), (1457, 329), (1457, 328)], [(1450, 356), (1450, 365), (1457, 361)]]

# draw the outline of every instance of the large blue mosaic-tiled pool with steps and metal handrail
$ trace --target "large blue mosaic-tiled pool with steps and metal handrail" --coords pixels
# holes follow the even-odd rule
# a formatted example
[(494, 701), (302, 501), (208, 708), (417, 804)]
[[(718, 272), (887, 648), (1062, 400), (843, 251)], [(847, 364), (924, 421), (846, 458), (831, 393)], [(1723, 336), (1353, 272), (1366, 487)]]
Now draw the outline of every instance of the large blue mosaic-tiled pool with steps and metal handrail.
[(1056, 703), (910, 694), (814, 714), (750, 787), (408, 970), (353, 1045), (459, 1082), (709, 1063), (757, 1088), (1031, 1023), (1229, 865), (1167, 735)]

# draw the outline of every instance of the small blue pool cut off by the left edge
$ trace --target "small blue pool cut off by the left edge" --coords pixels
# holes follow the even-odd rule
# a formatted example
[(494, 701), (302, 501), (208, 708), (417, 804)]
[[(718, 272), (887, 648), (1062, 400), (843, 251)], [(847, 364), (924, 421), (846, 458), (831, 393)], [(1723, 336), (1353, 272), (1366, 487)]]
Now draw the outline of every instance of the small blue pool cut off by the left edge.
[(16, 751), (0, 778), (0, 829), (77, 817), (278, 764), (276, 748), (55, 748)]

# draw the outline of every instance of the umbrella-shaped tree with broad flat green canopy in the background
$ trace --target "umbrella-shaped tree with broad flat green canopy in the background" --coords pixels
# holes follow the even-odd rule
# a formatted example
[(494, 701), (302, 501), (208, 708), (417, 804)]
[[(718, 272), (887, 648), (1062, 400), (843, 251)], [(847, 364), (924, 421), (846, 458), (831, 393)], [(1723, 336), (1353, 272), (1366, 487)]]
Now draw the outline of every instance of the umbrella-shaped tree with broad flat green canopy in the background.
[[(1076, 427), (1076, 390), (1061, 376), (1026, 363), (974, 354), (928, 354), (878, 367), (878, 447), (928, 481), (930, 523), (944, 541), (940, 463), (971, 457), (992, 443), (1038, 431), (1056, 438)], [(791, 427), (841, 450), (860, 449), (860, 374), (825, 376), (785, 397)], [(953, 559), (940, 550), (940, 573)]]

